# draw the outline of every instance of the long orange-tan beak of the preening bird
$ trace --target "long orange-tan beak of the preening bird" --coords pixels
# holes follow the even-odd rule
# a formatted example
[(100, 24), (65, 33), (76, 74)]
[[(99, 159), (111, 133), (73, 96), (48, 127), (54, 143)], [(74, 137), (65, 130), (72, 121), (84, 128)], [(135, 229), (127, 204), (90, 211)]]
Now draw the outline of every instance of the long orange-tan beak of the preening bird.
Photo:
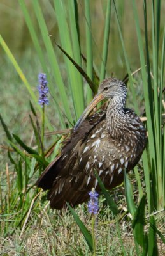
[(94, 107), (99, 102), (101, 102), (101, 100), (103, 100), (103, 99), (104, 99), (103, 93), (97, 93), (96, 94), (94, 99), (92, 99), (92, 101), (90, 102), (89, 106), (87, 106), (87, 108), (85, 108), (85, 110), (83, 111), (82, 115), (80, 116), (80, 118), (76, 122), (75, 127), (74, 127), (74, 131), (76, 131), (76, 129), (78, 129), (78, 127), (82, 124), (83, 120), (85, 120), (85, 118), (89, 115), (90, 111), (92, 111), (92, 109), (94, 109)]

